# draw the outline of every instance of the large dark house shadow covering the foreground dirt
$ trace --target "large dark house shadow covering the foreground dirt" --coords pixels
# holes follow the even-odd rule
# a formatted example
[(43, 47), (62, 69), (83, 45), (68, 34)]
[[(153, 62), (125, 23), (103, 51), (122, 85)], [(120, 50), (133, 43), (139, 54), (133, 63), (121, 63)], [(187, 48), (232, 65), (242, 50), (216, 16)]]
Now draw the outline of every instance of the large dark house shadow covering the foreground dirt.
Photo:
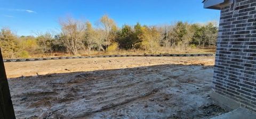
[(154, 65), (10, 79), (17, 118), (210, 118), (213, 66)]

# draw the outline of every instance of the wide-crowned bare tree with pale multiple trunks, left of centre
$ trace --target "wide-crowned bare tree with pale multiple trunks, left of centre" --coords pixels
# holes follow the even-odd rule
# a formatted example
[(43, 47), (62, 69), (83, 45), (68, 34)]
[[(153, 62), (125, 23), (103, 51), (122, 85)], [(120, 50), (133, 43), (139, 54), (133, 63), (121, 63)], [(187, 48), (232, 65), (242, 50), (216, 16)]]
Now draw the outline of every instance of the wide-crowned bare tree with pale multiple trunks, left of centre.
[(68, 52), (76, 55), (78, 49), (83, 47), (82, 39), (84, 38), (86, 24), (71, 17), (60, 19), (59, 24), (61, 25), (63, 45), (65, 45)]

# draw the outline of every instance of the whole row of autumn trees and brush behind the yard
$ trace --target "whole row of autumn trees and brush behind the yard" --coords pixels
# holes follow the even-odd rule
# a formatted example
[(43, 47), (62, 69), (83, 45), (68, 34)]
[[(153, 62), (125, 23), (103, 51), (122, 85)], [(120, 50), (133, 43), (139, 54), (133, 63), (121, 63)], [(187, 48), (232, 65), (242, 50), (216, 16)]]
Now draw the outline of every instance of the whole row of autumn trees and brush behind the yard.
[(170, 25), (124, 24), (118, 28), (115, 21), (103, 15), (98, 23), (66, 17), (59, 20), (60, 32), (37, 32), (34, 36), (17, 36), (9, 28), (0, 31), (0, 47), (5, 58), (28, 57), (30, 54), (62, 52), (77, 55), (79, 50), (111, 52), (140, 49), (156, 52), (162, 48), (215, 46), (218, 27), (213, 22)]

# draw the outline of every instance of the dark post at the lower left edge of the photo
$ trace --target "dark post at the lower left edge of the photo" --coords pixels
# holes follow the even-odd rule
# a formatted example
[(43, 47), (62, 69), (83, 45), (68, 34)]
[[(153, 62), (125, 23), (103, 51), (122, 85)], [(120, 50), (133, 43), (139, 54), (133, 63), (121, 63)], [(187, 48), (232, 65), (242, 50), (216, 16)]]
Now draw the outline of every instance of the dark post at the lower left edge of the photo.
[(4, 69), (4, 62), (3, 62), (1, 48), (0, 48), (0, 118), (1, 119), (15, 118), (9, 84), (8, 84), (5, 69)]

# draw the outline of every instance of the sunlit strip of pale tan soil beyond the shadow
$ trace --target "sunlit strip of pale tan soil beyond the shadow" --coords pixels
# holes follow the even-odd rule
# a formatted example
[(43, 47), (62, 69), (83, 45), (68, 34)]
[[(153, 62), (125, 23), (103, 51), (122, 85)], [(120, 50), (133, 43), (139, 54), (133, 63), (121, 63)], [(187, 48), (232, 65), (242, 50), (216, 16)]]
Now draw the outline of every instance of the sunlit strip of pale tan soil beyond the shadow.
[(214, 65), (214, 57), (112, 57), (4, 63), (7, 78), (53, 73), (124, 69), (161, 64)]

